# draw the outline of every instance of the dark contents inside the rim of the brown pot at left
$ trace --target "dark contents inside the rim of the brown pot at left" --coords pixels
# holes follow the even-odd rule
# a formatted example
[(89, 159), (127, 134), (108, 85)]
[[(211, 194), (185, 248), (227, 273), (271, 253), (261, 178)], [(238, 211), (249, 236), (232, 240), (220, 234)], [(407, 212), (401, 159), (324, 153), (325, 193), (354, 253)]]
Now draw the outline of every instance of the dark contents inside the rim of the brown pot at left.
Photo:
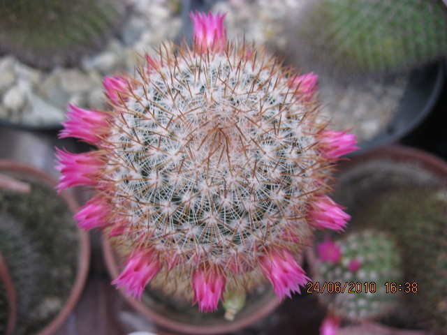
[(17, 274), (15, 335), (34, 334), (54, 319), (71, 293), (78, 233), (71, 210), (50, 185), (32, 175), (8, 177), (27, 184), (29, 191), (0, 188), (0, 248), (11, 273)]

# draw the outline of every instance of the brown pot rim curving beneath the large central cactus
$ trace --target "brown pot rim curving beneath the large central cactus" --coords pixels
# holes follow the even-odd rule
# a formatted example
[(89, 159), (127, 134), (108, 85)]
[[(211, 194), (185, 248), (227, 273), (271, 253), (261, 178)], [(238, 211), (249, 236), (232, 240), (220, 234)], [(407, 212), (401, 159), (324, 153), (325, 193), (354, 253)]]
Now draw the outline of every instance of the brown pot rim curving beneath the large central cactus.
[[(110, 276), (117, 278), (119, 276), (117, 255), (105, 237), (103, 237), (103, 253)], [(219, 315), (219, 317), (215, 318), (204, 318), (203, 322), (202, 320), (192, 322), (186, 320), (184, 315), (176, 314), (166, 306), (150, 299), (150, 297), (143, 303), (126, 297), (123, 289), (120, 289), (120, 292), (136, 311), (145, 315), (145, 317), (152, 320), (156, 325), (183, 334), (228, 334), (235, 332), (265, 318), (280, 304), (274, 291), (269, 290), (265, 295), (256, 299), (253, 304), (247, 303), (233, 321), (225, 320), (223, 315)], [(145, 299), (143, 298), (142, 300)], [(207, 313), (204, 313), (204, 315), (207, 315)]]

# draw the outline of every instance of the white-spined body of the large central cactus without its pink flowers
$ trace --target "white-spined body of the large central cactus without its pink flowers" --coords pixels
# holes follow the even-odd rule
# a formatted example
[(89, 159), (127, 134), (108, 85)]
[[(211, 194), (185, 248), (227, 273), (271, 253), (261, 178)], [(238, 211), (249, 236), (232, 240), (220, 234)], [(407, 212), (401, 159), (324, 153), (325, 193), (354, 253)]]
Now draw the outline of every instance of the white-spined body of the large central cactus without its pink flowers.
[(232, 57), (142, 69), (106, 156), (131, 237), (216, 264), (235, 251), (254, 259), (293, 232), (305, 243), (302, 215), (327, 165), (314, 149), (325, 120), (294, 96), (281, 66)]

